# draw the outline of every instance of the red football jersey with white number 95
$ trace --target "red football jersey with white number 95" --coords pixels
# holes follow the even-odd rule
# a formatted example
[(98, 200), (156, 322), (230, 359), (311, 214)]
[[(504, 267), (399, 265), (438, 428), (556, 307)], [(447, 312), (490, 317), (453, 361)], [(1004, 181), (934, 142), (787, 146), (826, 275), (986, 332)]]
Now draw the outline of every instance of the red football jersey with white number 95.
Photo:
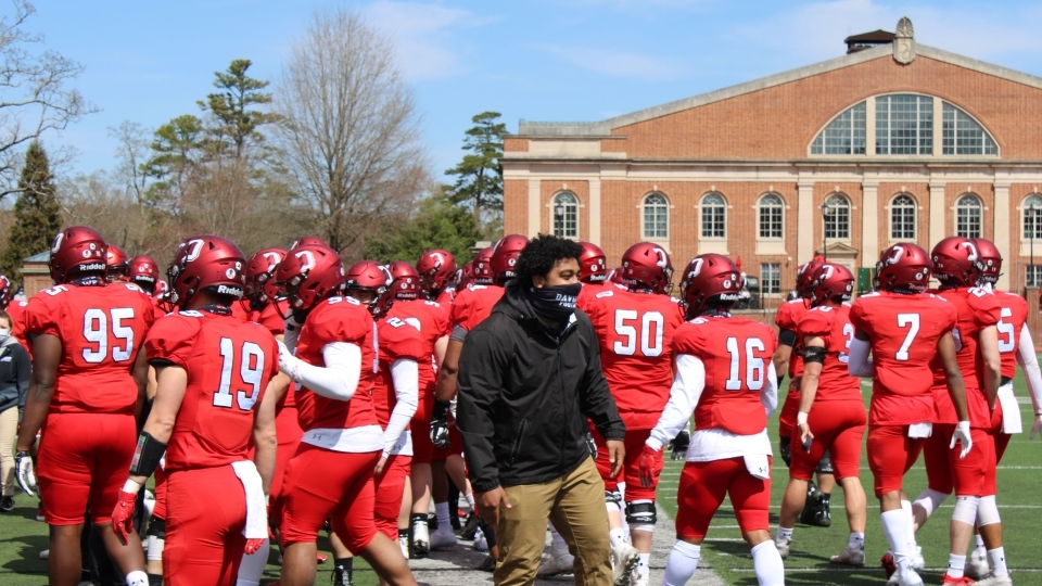
[(55, 285), (34, 295), (25, 331), (62, 341), (51, 409), (132, 413), (134, 362), (153, 321), (150, 297), (132, 283)]

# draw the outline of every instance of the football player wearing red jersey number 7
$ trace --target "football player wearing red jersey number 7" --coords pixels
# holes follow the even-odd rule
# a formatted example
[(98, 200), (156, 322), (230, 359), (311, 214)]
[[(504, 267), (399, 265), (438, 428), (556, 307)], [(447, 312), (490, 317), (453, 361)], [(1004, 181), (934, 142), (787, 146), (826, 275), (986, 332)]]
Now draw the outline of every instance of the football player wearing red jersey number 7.
[(937, 418), (930, 390), (930, 361), (935, 357), (944, 370), (958, 421), (950, 445), (960, 445), (962, 456), (973, 447), (966, 390), (953, 335), (958, 316), (954, 305), (927, 291), (931, 268), (930, 257), (917, 244), (890, 246), (876, 265), (879, 291), (861, 295), (850, 310), (854, 340), (848, 368), (855, 377), (873, 379), (868, 468), (875, 479), (884, 533), (894, 558), (890, 584), (900, 586), (923, 584), (913, 568), (912, 502), (902, 482), (918, 459)]

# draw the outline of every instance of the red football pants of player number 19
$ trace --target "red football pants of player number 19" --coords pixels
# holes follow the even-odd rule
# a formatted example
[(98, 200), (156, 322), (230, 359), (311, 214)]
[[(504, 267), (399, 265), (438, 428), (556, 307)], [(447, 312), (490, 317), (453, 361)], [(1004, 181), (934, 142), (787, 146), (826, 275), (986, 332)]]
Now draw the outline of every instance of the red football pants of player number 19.
[(246, 495), (234, 469), (178, 470), (166, 485), (164, 584), (234, 586), (246, 546)]

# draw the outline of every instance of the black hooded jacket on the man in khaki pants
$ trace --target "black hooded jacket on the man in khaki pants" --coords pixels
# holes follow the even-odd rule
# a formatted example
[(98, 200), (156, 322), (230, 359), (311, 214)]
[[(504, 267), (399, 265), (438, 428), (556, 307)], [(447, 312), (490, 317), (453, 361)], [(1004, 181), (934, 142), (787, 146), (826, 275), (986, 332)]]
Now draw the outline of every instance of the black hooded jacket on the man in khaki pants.
[(456, 424), (480, 493), (575, 470), (589, 457), (587, 418), (607, 440), (626, 433), (589, 318), (576, 310), (548, 329), (516, 280), (467, 335), (458, 384)]

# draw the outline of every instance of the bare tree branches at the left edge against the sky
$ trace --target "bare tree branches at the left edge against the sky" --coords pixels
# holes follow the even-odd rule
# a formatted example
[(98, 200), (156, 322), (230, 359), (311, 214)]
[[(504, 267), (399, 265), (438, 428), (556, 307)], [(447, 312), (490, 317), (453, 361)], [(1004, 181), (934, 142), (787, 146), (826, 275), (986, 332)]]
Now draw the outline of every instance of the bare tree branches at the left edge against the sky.
[(53, 51), (29, 51), (43, 41), (23, 28), (36, 9), (26, 0), (12, 4), (14, 13), (0, 16), (0, 198), (18, 191), (23, 146), (97, 111), (67, 87), (84, 66)]

